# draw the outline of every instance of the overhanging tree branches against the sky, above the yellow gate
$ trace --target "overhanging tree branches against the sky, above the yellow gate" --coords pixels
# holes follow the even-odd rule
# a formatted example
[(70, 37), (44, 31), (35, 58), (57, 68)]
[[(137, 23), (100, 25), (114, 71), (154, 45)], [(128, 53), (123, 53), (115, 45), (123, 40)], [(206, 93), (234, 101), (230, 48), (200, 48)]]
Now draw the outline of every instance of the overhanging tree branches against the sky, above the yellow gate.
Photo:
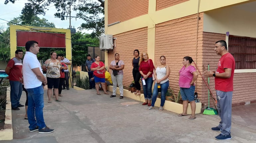
[[(15, 1), (17, 0), (5, 0), (4, 4)], [(100, 14), (104, 15), (104, 0), (28, 0), (22, 9), (21, 19), (31, 24), (32, 17), (45, 15), (47, 7), (51, 4), (56, 7), (57, 13), (54, 14), (56, 18), (64, 20), (69, 14), (69, 7), (72, 7), (74, 11), (78, 11), (76, 16), (85, 21), (81, 24), (80, 30), (91, 29), (93, 36), (104, 33), (104, 17), (100, 17)]]

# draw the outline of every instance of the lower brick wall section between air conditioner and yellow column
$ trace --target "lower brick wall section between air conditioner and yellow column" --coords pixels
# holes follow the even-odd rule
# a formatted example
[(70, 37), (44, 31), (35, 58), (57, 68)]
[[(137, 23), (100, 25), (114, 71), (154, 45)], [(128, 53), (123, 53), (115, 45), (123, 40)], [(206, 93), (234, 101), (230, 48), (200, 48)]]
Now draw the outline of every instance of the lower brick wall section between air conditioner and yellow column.
[[(120, 60), (123, 60), (125, 64), (123, 69), (123, 84), (125, 87), (128, 87), (128, 85), (133, 81), (133, 51), (135, 49), (138, 49), (140, 53), (147, 51), (147, 32), (147, 27), (145, 27), (113, 36), (117, 38), (116, 47), (114, 47), (113, 52), (110, 51), (108, 53), (108, 65), (110, 65), (110, 62), (115, 59), (115, 53), (118, 53), (120, 55)], [(108, 71), (110, 73), (112, 72), (110, 69)]]

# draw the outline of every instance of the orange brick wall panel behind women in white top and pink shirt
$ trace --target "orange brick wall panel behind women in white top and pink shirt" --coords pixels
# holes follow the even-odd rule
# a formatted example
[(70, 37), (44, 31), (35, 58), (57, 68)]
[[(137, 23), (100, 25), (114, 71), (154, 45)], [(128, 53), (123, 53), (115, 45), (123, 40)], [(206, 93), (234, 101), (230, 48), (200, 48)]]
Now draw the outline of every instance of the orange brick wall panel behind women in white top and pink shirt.
[[(201, 20), (199, 20), (198, 30), (199, 41), (197, 54), (199, 58), (202, 57), (201, 50), (199, 50), (202, 49), (202, 16), (203, 15), (200, 14)], [(195, 60), (196, 25), (197, 15), (174, 19), (156, 25), (155, 65), (160, 65), (159, 59), (161, 55), (166, 56), (166, 64), (169, 65), (171, 69), (169, 76), (170, 87), (176, 94), (180, 89), (179, 70), (183, 66), (183, 57), (191, 56)], [(197, 86), (197, 89), (200, 88), (201, 82), (199, 82)], [(199, 95), (198, 93), (198, 96)]]

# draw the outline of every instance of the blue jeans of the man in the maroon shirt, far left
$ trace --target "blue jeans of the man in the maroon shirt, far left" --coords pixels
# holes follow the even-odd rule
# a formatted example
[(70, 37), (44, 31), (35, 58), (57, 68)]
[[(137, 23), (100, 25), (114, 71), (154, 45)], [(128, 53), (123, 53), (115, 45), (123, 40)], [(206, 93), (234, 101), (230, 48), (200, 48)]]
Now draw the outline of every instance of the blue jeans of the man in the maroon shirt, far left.
[(11, 103), (12, 103), (12, 108), (16, 108), (20, 105), (20, 97), (22, 93), (22, 83), (19, 81), (10, 81), (10, 86), (11, 86)]

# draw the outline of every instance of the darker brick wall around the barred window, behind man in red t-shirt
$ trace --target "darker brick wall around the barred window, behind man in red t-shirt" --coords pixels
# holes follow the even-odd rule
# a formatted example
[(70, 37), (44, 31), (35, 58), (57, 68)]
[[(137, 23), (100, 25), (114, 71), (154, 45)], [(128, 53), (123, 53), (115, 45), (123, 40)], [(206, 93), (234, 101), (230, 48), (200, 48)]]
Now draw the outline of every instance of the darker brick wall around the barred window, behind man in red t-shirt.
[[(217, 55), (214, 51), (215, 42), (219, 40), (225, 40), (225, 34), (203, 32), (203, 66), (207, 70), (209, 63), (210, 70), (215, 71), (220, 55)], [(202, 65), (200, 65), (202, 66)], [(245, 82), (246, 81), (246, 82)], [(234, 91), (232, 97), (232, 106), (244, 105), (246, 102), (253, 102), (256, 100), (256, 73), (235, 73), (234, 74)], [(216, 98), (216, 92), (214, 89), (214, 78), (210, 78), (210, 89)], [(203, 105), (206, 107), (208, 99), (208, 90), (205, 84), (202, 87)], [(213, 103), (210, 102), (210, 106)]]

